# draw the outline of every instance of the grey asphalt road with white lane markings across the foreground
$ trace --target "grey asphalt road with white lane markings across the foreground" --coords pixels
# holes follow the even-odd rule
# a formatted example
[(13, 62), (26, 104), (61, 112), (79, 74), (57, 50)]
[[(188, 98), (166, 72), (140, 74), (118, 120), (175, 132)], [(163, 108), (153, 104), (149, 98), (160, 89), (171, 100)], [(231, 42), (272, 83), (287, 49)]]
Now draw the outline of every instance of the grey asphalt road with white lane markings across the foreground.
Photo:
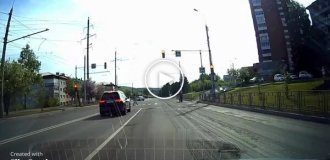
[[(330, 159), (330, 126), (177, 100), (0, 120), (0, 159)], [(24, 155), (25, 154), (25, 155)]]

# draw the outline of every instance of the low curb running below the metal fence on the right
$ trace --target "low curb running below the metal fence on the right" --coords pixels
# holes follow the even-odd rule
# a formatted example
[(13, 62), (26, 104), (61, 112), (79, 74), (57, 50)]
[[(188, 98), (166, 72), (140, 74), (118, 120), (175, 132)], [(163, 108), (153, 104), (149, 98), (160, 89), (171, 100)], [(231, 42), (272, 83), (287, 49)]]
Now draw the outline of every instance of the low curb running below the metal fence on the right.
[(219, 107), (239, 109), (239, 110), (245, 110), (245, 111), (250, 111), (250, 112), (270, 114), (270, 115), (275, 115), (275, 116), (282, 116), (282, 117), (299, 119), (299, 120), (304, 120), (304, 121), (330, 124), (330, 118), (326, 118), (326, 117), (317, 117), (317, 116), (303, 115), (303, 114), (298, 114), (298, 113), (281, 112), (281, 111), (275, 111), (275, 110), (265, 110), (265, 109), (261, 109), (261, 108), (239, 106), (239, 105), (217, 104), (217, 103), (205, 102), (205, 101), (198, 101), (197, 103), (204, 103), (204, 104), (209, 104), (209, 105), (214, 105), (214, 106), (219, 106)]

